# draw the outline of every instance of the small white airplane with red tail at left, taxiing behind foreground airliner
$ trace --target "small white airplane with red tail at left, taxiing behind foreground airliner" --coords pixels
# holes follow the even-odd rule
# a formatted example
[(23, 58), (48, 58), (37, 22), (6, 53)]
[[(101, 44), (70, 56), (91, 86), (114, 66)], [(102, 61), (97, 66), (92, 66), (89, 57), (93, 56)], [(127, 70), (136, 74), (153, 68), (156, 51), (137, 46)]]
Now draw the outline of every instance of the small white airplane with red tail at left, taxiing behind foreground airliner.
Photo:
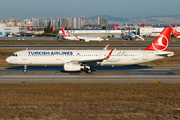
[(84, 41), (84, 42), (89, 42), (89, 41), (103, 41), (104, 39), (101, 37), (85, 37), (85, 36), (73, 36), (68, 34), (63, 28), (61, 28), (62, 33), (63, 33), (63, 39), (65, 40), (74, 40), (74, 41)]

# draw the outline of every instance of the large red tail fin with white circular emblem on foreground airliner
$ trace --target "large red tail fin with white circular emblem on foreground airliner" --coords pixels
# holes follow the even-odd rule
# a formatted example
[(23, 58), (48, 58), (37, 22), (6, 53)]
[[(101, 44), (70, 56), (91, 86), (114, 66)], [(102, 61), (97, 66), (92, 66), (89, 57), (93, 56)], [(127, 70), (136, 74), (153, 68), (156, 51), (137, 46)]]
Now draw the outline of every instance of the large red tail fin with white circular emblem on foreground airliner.
[(153, 51), (166, 51), (169, 38), (172, 32), (172, 28), (164, 28), (160, 35), (153, 41), (153, 43), (144, 50), (153, 50)]

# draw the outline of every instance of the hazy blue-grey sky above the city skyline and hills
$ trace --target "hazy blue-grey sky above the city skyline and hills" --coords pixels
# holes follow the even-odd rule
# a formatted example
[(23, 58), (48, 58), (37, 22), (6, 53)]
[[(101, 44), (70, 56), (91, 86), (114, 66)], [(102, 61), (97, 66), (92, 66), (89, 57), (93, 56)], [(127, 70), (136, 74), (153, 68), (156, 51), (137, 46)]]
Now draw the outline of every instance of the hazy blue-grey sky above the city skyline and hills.
[(134, 18), (180, 15), (180, 0), (2, 0), (0, 20), (14, 18), (92, 17)]

